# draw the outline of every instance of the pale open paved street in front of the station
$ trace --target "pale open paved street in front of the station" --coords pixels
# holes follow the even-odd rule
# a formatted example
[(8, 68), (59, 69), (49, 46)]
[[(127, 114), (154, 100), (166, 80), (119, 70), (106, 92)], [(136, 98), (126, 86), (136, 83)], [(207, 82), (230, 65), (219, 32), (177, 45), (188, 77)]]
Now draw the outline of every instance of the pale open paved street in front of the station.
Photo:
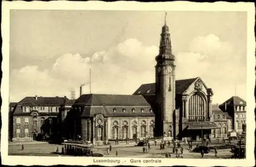
[[(54, 154), (56, 147), (59, 147), (59, 151), (61, 151), (60, 145), (53, 145), (48, 143), (36, 143), (36, 144), (24, 144), (25, 150), (21, 150), (20, 145), (9, 145), (9, 155), (44, 155), (44, 156), (59, 156)], [(170, 152), (172, 153), (172, 148), (166, 147), (165, 150), (160, 150), (159, 145), (151, 146), (151, 151), (149, 153), (143, 153), (142, 147), (135, 147), (134, 145), (118, 145), (112, 146), (112, 151), (110, 155), (106, 154), (106, 148), (99, 147), (97, 151), (94, 153), (101, 153), (103, 157), (115, 157), (115, 152), (118, 152), (118, 157), (147, 157), (147, 158), (165, 158), (164, 153)], [(180, 153), (180, 150), (179, 150)], [(175, 158), (176, 154), (172, 154), (171, 158)], [(231, 152), (230, 149), (218, 150), (217, 158), (230, 158)], [(201, 158), (200, 153), (193, 153), (187, 148), (184, 148), (183, 158)], [(204, 158), (216, 158), (214, 151), (211, 151), (208, 154), (204, 155)]]

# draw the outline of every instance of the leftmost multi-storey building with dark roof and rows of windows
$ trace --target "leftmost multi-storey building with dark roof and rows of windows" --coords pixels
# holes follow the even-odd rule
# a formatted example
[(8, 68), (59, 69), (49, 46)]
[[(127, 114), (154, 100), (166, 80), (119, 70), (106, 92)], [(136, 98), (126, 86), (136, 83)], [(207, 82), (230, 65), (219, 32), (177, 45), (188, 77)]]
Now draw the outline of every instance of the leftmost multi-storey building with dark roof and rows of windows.
[(45, 140), (57, 137), (57, 116), (66, 97), (26, 97), (12, 113), (12, 141)]

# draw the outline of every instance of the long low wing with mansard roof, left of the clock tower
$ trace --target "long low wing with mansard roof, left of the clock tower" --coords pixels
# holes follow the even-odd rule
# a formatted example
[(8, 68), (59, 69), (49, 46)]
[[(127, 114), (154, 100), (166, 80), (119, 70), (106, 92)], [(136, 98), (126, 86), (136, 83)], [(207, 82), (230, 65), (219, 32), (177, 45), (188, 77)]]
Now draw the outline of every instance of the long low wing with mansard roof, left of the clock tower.
[(70, 127), (67, 138), (104, 145), (154, 137), (155, 114), (143, 96), (83, 94), (67, 113), (65, 123)]

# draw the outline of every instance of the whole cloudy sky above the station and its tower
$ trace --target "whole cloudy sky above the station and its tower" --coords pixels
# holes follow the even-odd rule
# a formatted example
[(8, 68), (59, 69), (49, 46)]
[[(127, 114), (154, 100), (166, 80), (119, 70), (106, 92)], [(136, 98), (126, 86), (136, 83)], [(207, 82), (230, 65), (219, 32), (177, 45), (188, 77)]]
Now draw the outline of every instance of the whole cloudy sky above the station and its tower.
[[(176, 79), (201, 77), (214, 103), (246, 100), (246, 13), (167, 12)], [(10, 101), (92, 92), (132, 94), (155, 82), (164, 12), (10, 12)], [(89, 93), (89, 85), (83, 93)]]

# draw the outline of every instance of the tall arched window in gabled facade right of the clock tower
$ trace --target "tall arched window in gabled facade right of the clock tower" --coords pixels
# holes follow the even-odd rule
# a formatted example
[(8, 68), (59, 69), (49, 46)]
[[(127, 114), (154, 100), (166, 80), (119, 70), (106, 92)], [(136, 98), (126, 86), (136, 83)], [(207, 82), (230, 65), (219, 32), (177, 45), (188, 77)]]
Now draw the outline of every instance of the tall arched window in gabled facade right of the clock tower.
[(199, 93), (193, 94), (188, 100), (188, 120), (201, 120), (206, 110), (205, 100)]

